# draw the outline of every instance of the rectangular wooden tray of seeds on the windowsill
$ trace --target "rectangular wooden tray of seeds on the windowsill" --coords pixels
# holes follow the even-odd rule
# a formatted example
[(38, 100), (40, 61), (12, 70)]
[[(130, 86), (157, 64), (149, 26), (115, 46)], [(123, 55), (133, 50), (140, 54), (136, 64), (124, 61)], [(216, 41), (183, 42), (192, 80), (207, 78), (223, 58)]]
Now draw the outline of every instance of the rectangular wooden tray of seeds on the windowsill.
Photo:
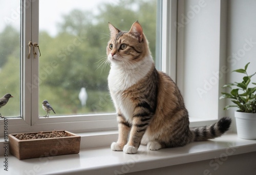
[[(66, 130), (57, 130), (57, 132), (65, 132), (66, 137), (19, 140), (15, 137), (18, 134), (10, 134), (10, 152), (19, 160), (48, 156), (78, 154), (80, 151), (81, 137), (73, 133), (67, 132)], [(42, 133), (52, 133), (52, 131)]]

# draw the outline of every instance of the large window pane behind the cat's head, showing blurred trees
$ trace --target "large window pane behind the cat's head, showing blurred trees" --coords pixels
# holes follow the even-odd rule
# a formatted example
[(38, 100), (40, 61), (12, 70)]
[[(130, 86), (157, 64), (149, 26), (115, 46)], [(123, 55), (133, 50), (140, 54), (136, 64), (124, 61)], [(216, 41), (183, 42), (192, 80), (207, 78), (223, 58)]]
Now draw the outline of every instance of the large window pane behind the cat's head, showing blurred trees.
[(39, 1), (39, 116), (114, 112), (106, 63), (108, 22), (129, 31), (138, 20), (155, 57), (157, 1)]

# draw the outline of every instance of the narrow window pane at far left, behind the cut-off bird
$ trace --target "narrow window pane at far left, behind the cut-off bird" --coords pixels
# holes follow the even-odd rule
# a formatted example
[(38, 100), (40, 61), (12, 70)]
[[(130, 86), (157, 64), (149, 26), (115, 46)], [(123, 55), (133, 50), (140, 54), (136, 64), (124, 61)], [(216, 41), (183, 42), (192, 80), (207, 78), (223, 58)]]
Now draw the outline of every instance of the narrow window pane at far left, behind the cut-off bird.
[(20, 1), (0, 0), (0, 98), (10, 93), (0, 106), (3, 117), (20, 116)]

